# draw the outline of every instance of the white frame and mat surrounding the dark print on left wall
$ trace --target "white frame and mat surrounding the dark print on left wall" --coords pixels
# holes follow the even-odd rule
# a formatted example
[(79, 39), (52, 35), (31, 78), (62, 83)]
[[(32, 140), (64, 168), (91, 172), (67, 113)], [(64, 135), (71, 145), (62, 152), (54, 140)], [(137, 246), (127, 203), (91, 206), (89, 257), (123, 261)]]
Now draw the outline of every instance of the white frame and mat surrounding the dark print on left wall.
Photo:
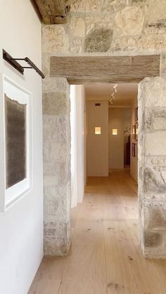
[[(26, 178), (6, 188), (6, 122), (5, 94), (11, 100), (26, 104)], [(32, 189), (32, 93), (0, 74), (0, 212)]]

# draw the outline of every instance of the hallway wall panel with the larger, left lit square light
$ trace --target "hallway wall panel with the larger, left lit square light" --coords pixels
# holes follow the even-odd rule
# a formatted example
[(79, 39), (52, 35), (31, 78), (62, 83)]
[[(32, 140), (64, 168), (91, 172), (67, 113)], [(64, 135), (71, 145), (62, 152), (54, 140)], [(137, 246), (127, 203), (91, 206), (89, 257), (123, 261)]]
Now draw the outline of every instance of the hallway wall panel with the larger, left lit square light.
[[(101, 106), (95, 106), (95, 102)], [(87, 101), (88, 176), (108, 176), (108, 101)], [(95, 127), (101, 135), (95, 135)]]

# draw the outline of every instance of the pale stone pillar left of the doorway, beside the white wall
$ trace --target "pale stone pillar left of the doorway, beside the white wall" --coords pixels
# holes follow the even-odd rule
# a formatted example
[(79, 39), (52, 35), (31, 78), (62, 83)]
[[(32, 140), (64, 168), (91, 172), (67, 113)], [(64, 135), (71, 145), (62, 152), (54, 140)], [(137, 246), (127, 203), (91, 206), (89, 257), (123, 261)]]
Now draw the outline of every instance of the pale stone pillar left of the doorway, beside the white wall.
[[(48, 55), (45, 65), (49, 67)], [(66, 79), (46, 76), (43, 83), (45, 255), (66, 255), (70, 248), (69, 94)]]

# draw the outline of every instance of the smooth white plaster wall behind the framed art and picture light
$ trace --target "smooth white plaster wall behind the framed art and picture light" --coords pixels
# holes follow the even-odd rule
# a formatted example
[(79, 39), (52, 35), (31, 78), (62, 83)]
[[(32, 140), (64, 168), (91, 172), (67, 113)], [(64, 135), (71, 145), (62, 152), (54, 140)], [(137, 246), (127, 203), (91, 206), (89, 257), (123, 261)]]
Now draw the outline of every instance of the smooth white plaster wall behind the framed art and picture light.
[(24, 76), (15, 71), (2, 59), (2, 48), (41, 68), (41, 24), (30, 1), (0, 0), (0, 72), (33, 95), (33, 188), (0, 213), (0, 293), (27, 294), (43, 256), (41, 78), (33, 70)]

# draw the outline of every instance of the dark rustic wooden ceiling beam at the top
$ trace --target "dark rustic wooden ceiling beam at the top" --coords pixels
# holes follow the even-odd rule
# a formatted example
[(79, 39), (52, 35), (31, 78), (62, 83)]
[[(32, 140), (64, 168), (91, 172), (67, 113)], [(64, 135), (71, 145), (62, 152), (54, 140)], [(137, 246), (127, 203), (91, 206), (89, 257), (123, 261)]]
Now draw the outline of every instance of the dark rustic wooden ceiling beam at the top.
[(46, 25), (67, 22), (69, 4), (65, 0), (35, 0)]

